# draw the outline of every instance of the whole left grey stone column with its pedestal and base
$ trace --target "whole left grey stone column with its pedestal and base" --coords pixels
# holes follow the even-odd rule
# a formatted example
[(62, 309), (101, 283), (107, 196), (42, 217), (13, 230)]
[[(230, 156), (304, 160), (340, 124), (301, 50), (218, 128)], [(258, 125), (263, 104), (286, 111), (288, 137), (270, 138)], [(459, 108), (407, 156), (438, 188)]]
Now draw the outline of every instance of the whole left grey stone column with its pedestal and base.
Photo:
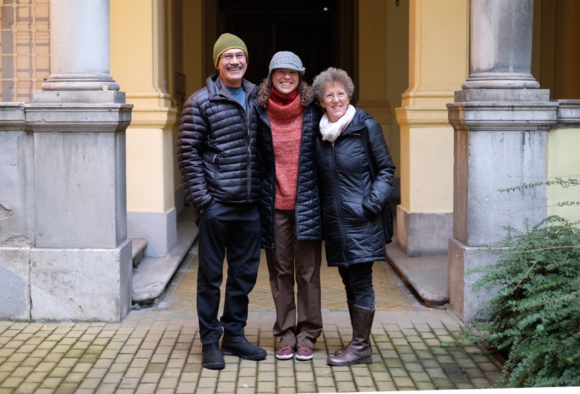
[(50, 1), (52, 73), (26, 105), (34, 137), (32, 319), (120, 321), (131, 307), (125, 130), (108, 74), (109, 1)]

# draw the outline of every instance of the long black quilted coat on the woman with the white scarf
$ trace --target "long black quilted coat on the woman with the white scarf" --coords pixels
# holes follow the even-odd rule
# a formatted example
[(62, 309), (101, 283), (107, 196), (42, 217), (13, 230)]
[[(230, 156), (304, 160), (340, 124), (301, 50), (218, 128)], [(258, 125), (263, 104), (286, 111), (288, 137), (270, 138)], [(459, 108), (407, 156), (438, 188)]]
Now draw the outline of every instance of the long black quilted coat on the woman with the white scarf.
[[(376, 173), (374, 182), (361, 140), (363, 128), (368, 129), (369, 151)], [(380, 212), (393, 191), (395, 165), (380, 125), (371, 115), (356, 109), (353, 120), (338, 136), (334, 147), (322, 141), (318, 133), (316, 163), (328, 265), (384, 261), (385, 232)]]

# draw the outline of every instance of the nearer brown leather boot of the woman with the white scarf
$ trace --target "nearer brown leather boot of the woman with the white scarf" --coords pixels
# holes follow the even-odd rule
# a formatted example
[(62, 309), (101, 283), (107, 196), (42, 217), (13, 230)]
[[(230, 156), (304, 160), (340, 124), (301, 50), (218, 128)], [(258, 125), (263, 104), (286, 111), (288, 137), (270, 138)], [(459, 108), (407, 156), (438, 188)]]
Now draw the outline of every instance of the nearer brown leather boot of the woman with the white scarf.
[(351, 366), (356, 364), (371, 364), (371, 327), (373, 325), (374, 309), (355, 305), (353, 308), (352, 339), (340, 355), (329, 356), (327, 364), (331, 366)]

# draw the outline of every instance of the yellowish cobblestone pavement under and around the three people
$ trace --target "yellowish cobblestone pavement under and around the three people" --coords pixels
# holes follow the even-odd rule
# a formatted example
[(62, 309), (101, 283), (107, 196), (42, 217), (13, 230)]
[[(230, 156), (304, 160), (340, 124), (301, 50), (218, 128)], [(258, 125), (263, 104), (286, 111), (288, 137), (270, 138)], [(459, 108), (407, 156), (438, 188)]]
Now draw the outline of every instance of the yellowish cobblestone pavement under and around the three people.
[(486, 388), (501, 364), (462, 342), (461, 323), (426, 308), (386, 263), (376, 263), (373, 363), (330, 367), (351, 326), (336, 268), (322, 268), (324, 330), (308, 362), (274, 357), (273, 302), (266, 264), (251, 293), (246, 328), (267, 349), (260, 362), (225, 356), (226, 368), (202, 368), (195, 314), (196, 247), (160, 301), (121, 323), (0, 321), (0, 393), (339, 393)]

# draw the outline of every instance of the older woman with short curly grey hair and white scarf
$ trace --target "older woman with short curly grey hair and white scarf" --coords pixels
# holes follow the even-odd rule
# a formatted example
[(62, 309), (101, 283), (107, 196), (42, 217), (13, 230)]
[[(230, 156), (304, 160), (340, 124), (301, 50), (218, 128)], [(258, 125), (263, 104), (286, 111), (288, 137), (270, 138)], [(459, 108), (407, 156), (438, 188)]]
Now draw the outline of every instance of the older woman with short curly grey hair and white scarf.
[(345, 71), (323, 71), (314, 78), (312, 91), (325, 112), (316, 140), (316, 165), (326, 258), (329, 266), (338, 267), (352, 323), (351, 341), (327, 363), (370, 364), (372, 268), (374, 261), (385, 261), (385, 245), (390, 242), (382, 211), (389, 209), (395, 166), (380, 125), (350, 104), (354, 84)]

